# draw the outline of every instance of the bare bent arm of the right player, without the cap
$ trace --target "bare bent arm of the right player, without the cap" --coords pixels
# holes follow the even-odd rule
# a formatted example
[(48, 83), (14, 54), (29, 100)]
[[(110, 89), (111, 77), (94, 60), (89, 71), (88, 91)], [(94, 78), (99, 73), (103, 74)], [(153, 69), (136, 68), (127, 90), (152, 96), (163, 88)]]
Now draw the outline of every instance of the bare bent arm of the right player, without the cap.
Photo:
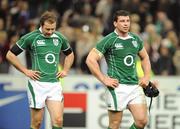
[(102, 58), (102, 53), (99, 52), (97, 49), (93, 48), (86, 59), (86, 64), (91, 71), (91, 73), (99, 80), (101, 81), (105, 86), (109, 87), (116, 87), (118, 85), (118, 80), (113, 79), (110, 77), (107, 77), (104, 75), (101, 70), (98, 61)]

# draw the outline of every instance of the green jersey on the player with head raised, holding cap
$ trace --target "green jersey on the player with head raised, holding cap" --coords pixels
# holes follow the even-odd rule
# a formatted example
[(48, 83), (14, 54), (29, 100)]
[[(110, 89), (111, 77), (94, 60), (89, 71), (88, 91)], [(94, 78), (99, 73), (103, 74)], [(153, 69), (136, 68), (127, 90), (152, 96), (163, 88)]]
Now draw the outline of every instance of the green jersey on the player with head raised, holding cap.
[(143, 41), (131, 32), (127, 37), (120, 37), (114, 31), (96, 45), (106, 59), (108, 76), (118, 79), (121, 84), (138, 84), (136, 58), (142, 48)]

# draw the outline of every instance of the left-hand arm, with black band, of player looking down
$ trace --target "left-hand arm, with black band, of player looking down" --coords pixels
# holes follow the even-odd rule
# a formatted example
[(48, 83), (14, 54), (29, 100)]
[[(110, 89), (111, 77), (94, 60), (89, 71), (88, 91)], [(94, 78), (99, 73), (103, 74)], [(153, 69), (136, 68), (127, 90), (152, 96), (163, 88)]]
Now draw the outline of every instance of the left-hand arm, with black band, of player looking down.
[(39, 72), (28, 70), (20, 60), (18, 59), (18, 55), (23, 50), (20, 49), (16, 44), (7, 52), (6, 59), (20, 72), (24, 73), (26, 76), (30, 77), (31, 79), (37, 80), (39, 79)]

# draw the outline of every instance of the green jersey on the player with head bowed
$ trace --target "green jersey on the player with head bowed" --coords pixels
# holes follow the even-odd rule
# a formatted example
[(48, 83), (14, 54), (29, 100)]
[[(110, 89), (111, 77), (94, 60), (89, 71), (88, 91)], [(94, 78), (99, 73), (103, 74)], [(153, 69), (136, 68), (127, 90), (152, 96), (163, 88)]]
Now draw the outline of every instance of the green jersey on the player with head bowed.
[(40, 71), (41, 82), (57, 82), (56, 73), (60, 60), (60, 52), (69, 49), (67, 39), (59, 32), (45, 37), (41, 29), (28, 33), (16, 43), (22, 50), (31, 55), (32, 70)]

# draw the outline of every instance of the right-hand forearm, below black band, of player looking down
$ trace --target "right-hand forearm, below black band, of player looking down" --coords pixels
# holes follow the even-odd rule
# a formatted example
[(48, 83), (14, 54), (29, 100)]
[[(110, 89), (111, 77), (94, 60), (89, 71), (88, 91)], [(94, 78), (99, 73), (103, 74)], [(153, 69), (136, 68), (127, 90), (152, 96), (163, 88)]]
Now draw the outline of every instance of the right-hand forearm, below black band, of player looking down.
[(71, 54), (65, 57), (63, 70), (69, 72), (73, 62), (74, 62), (74, 54), (72, 52)]

